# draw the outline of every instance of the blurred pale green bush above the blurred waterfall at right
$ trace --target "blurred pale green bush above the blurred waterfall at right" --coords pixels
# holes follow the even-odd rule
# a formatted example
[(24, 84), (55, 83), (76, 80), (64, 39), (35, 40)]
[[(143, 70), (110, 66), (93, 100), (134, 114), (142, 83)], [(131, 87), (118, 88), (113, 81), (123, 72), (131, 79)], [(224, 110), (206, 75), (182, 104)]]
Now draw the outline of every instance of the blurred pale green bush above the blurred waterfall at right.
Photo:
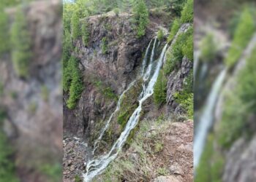
[(208, 33), (200, 44), (201, 55), (200, 58), (203, 61), (211, 62), (217, 55), (217, 44), (214, 41), (214, 36)]

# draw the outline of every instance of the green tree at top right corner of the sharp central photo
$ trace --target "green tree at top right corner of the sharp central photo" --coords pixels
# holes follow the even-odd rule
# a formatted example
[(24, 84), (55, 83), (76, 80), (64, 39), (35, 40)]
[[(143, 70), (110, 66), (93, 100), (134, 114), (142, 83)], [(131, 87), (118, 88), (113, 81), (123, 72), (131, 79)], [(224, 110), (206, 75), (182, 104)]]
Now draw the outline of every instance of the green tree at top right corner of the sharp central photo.
[(194, 1), (187, 0), (182, 12), (181, 23), (192, 23), (194, 19)]

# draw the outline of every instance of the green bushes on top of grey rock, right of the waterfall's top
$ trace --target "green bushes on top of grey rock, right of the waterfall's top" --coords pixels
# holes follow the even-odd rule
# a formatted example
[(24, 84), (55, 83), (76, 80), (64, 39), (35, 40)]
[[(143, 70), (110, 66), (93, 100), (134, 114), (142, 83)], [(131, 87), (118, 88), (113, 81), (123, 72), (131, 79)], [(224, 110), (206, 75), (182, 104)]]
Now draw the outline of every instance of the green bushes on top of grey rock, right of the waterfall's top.
[(173, 43), (172, 49), (167, 52), (167, 59), (164, 66), (165, 75), (170, 74), (172, 71), (178, 70), (184, 55), (186, 55), (189, 59), (193, 58), (192, 34), (193, 28), (190, 27), (185, 33), (178, 35), (176, 41)]

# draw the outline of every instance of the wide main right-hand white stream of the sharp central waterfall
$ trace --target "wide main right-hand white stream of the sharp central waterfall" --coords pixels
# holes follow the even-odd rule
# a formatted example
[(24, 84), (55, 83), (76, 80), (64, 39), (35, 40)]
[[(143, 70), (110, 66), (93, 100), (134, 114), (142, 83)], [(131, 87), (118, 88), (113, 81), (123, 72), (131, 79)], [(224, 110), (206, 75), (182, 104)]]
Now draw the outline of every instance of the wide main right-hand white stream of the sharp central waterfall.
[[(156, 40), (155, 40), (156, 41)], [(132, 116), (130, 116), (127, 125), (123, 132), (121, 132), (120, 137), (118, 140), (113, 144), (112, 148), (108, 152), (108, 154), (99, 157), (98, 159), (92, 159), (88, 162), (88, 165), (86, 166), (86, 173), (83, 174), (83, 178), (85, 182), (91, 181), (92, 178), (94, 178), (96, 175), (99, 175), (102, 173), (102, 171), (105, 169), (105, 167), (108, 167), (110, 162), (113, 161), (113, 159), (116, 158), (118, 152), (121, 150), (121, 147), (124, 146), (124, 143), (127, 141), (127, 138), (129, 136), (129, 133), (132, 129), (135, 128), (135, 126), (138, 124), (138, 120), (140, 117), (140, 111), (142, 109), (143, 102), (149, 98), (154, 93), (154, 84), (157, 82), (157, 77), (159, 75), (160, 68), (162, 67), (163, 60), (165, 58), (165, 51), (167, 49), (167, 44), (163, 48), (161, 55), (158, 60), (155, 60), (157, 62), (156, 68), (154, 69), (154, 74), (151, 76), (151, 79), (149, 82), (143, 83), (143, 91), (140, 93), (139, 97), (139, 106), (135, 109)], [(154, 54), (154, 51), (152, 50)], [(153, 56), (154, 57), (154, 56)], [(153, 63), (153, 62), (152, 62)], [(151, 68), (150, 68), (151, 69)], [(150, 71), (151, 72), (151, 71)], [(150, 73), (149, 72), (149, 73)], [(146, 71), (145, 74), (147, 74), (148, 71)], [(145, 74), (143, 76), (145, 76)]]

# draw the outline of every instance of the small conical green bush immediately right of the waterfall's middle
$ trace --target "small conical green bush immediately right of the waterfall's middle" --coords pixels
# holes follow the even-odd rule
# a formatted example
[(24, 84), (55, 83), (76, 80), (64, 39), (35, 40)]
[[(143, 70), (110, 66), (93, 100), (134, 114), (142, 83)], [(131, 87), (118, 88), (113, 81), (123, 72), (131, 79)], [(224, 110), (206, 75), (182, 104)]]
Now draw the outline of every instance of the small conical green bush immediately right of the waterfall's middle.
[(166, 102), (167, 79), (163, 75), (163, 71), (159, 72), (157, 82), (154, 85), (154, 103), (160, 105)]

